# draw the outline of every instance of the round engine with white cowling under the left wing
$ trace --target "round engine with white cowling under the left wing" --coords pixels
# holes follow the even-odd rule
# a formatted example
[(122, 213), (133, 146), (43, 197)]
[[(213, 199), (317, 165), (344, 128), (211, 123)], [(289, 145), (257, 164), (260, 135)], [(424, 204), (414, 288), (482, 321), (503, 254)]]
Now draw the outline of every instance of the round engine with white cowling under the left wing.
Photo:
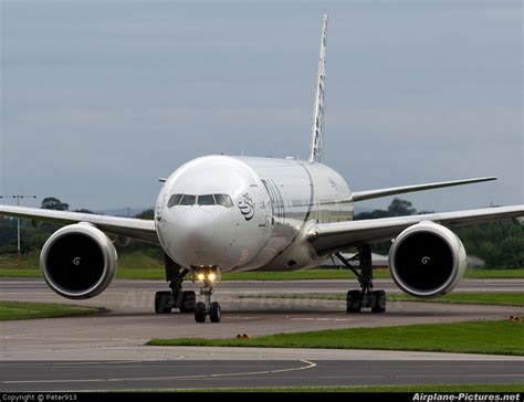
[(45, 282), (59, 295), (84, 299), (98, 295), (113, 281), (117, 254), (112, 241), (91, 223), (76, 223), (53, 233), (40, 254)]

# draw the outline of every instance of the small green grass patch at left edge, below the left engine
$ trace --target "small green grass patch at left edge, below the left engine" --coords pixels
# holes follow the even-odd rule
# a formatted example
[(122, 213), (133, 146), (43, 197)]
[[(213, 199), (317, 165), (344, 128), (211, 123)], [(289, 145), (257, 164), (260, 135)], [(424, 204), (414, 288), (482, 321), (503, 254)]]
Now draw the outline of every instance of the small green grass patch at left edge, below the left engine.
[(52, 303), (0, 302), (0, 321), (29, 318), (90, 316), (102, 309)]

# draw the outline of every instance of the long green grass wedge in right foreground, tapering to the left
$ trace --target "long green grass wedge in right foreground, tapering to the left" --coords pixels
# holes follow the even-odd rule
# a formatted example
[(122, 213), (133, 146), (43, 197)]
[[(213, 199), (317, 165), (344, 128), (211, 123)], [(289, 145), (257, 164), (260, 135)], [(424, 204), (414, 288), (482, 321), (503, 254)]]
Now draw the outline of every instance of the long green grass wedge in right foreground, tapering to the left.
[(421, 350), (524, 356), (524, 325), (510, 320), (275, 334), (251, 339), (153, 339), (153, 346)]

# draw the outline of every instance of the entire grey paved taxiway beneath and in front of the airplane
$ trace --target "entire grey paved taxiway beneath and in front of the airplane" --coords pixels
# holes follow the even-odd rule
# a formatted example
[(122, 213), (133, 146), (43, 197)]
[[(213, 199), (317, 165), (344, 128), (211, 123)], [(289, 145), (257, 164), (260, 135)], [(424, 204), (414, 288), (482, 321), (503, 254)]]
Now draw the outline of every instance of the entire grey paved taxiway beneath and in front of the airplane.
[[(188, 284), (187, 288), (191, 288)], [(390, 289), (380, 279), (376, 288)], [(153, 313), (161, 282), (115, 281), (90, 300), (67, 300), (40, 279), (0, 281), (0, 299), (73, 303), (99, 316), (0, 322), (0, 390), (98, 390), (298, 387), (524, 381), (524, 358), (323, 349), (146, 347), (151, 338), (234, 337), (328, 328), (377, 327), (524, 315), (523, 308), (388, 304), (386, 314), (347, 315), (344, 302), (239, 298), (271, 293), (340, 293), (349, 282), (224, 282), (216, 294), (222, 322)], [(196, 288), (196, 287), (195, 287)], [(520, 292), (522, 279), (465, 279), (458, 290)], [(373, 364), (370, 363), (373, 361)], [(453, 361), (453, 362), (450, 362)], [(371, 366), (369, 366), (371, 364)]]

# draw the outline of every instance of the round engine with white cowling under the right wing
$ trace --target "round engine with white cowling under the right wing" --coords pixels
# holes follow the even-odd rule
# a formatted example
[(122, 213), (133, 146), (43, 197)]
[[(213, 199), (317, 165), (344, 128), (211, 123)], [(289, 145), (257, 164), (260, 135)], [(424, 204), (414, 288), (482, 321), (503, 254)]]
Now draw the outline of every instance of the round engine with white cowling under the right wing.
[(465, 250), (460, 239), (434, 222), (415, 224), (394, 241), (389, 271), (404, 292), (431, 298), (451, 292), (465, 272)]

